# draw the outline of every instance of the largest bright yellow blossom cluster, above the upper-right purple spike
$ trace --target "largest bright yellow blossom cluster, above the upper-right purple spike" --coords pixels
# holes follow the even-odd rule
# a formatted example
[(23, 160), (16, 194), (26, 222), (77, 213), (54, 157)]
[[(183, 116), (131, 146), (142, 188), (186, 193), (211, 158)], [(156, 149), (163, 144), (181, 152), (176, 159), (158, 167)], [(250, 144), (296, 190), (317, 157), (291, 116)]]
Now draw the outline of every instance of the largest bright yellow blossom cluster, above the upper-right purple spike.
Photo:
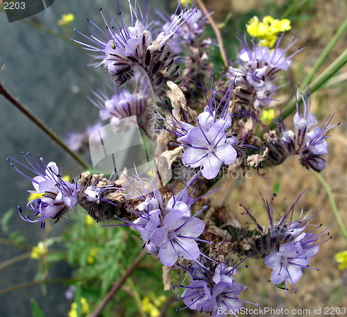
[(260, 45), (269, 48), (275, 45), (278, 33), (291, 29), (289, 19), (278, 20), (269, 15), (266, 15), (262, 22), (258, 17), (253, 17), (248, 21), (246, 27), (249, 35), (257, 37)]

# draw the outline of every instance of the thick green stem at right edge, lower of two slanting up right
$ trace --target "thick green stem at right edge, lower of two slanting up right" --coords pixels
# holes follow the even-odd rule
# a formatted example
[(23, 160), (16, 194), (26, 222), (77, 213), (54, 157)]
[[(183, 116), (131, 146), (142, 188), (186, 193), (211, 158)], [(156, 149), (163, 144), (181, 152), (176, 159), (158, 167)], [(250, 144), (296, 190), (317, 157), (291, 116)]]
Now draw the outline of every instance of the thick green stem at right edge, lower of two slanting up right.
[[(324, 83), (326, 83), (341, 67), (343, 67), (347, 63), (347, 49), (344, 51), (344, 53), (341, 53), (339, 57), (332, 62), (332, 64), (323, 71), (323, 73), (314, 80), (312, 84), (310, 84), (307, 88), (310, 90), (311, 93), (318, 90)], [(301, 87), (301, 92), (305, 90), (306, 87)], [(301, 104), (303, 102), (302, 98), (298, 98), (298, 103)], [(281, 118), (285, 119), (287, 118), (294, 110), (296, 109), (296, 97), (294, 96), (289, 100), (287, 103), (287, 108), (282, 111), (282, 115), (276, 118), (276, 121), (280, 121)], [(276, 127), (276, 123), (271, 122), (269, 124), (269, 129), (272, 130)]]

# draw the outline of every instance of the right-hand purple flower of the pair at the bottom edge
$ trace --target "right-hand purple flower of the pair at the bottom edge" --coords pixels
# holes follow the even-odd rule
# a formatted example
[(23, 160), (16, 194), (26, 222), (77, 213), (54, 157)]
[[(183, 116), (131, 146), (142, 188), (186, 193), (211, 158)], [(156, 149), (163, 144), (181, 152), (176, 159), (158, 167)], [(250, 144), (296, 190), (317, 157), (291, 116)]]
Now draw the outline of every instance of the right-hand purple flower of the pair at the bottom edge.
[(205, 301), (202, 309), (211, 311), (213, 317), (226, 317), (229, 311), (235, 311), (234, 315), (237, 316), (237, 311), (243, 306), (243, 301), (238, 298), (243, 289), (242, 284), (237, 284), (235, 280), (230, 283), (219, 282), (213, 286), (212, 297)]

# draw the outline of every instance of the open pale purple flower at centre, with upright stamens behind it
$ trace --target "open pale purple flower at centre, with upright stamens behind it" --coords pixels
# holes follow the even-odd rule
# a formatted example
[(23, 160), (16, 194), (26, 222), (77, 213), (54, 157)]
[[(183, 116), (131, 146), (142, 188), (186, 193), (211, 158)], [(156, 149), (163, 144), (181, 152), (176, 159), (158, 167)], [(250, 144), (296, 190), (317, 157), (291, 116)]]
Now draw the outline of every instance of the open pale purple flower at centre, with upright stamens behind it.
[[(182, 157), (183, 164), (192, 168), (200, 167), (202, 175), (207, 179), (216, 177), (222, 164), (231, 164), (237, 157), (237, 139), (235, 136), (227, 135), (231, 126), (231, 116), (227, 112), (231, 92), (232, 87), (229, 87), (217, 104), (216, 92), (211, 89), (210, 98), (206, 96), (208, 105), (196, 117), (198, 126), (178, 121), (176, 118), (167, 121), (167, 130), (175, 134), (178, 137), (177, 141), (186, 147)], [(171, 144), (181, 145), (174, 142)]]

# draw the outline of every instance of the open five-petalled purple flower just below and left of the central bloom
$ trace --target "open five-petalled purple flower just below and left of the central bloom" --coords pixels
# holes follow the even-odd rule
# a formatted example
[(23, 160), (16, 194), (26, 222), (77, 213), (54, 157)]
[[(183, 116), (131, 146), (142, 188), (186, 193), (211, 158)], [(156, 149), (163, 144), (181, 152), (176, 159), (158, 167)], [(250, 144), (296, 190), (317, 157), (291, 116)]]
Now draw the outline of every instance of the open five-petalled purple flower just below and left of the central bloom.
[(163, 226), (151, 235), (151, 242), (158, 246), (158, 257), (165, 266), (173, 266), (178, 257), (188, 260), (200, 255), (195, 239), (205, 229), (201, 219), (189, 217), (185, 212), (175, 209), (169, 212)]

